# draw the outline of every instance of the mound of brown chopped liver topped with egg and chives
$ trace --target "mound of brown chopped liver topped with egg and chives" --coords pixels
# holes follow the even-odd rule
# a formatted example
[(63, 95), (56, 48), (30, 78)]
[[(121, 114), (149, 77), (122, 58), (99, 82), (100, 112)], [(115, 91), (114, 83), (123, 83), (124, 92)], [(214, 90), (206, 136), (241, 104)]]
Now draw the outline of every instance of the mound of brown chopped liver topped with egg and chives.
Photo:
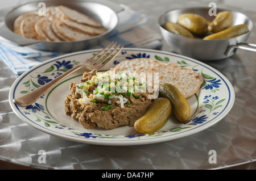
[(141, 78), (112, 70), (85, 72), (80, 82), (70, 83), (65, 112), (87, 129), (133, 126), (153, 101), (144, 85)]

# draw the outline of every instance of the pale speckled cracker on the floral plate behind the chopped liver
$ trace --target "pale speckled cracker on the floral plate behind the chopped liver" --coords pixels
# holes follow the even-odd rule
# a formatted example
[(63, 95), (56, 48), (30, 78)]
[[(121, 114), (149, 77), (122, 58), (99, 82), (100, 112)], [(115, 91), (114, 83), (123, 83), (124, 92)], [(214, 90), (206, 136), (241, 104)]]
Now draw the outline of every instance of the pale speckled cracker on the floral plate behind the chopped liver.
[[(158, 85), (170, 83), (175, 86), (185, 98), (195, 94), (201, 86), (201, 78), (196, 71), (170, 63), (162, 63), (150, 58), (134, 58), (122, 61), (115, 66), (115, 73), (120, 72), (138, 73), (140, 77), (147, 77), (147, 73), (151, 73), (153, 76), (154, 73), (158, 73)], [(148, 81), (152, 80), (147, 79), (147, 82)], [(152, 82), (154, 86), (154, 81)]]

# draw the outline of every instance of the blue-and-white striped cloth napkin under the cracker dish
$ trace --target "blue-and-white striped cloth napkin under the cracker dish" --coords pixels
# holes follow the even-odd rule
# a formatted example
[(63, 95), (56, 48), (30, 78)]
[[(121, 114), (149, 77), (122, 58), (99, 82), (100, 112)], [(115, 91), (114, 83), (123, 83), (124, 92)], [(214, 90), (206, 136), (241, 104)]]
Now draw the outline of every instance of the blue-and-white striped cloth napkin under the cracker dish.
[[(125, 5), (120, 6), (123, 11), (118, 13), (119, 22), (115, 30), (105, 41), (90, 49), (103, 48), (110, 41), (117, 41), (125, 47), (159, 48), (162, 36), (143, 26), (147, 16)], [(63, 54), (63, 52), (46, 52), (29, 47), (19, 47), (0, 39), (0, 58), (15, 74), (22, 74), (32, 66)]]

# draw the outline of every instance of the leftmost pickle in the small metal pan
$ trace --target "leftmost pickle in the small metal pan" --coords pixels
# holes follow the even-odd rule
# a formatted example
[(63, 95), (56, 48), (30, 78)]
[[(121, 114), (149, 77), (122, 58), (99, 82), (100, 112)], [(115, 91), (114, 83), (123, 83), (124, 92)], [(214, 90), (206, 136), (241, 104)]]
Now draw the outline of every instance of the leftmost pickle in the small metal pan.
[(170, 31), (171, 33), (174, 33), (175, 35), (185, 36), (185, 37), (193, 37), (192, 33), (189, 32), (186, 28), (183, 26), (180, 26), (177, 23), (172, 22), (165, 22), (162, 27)]

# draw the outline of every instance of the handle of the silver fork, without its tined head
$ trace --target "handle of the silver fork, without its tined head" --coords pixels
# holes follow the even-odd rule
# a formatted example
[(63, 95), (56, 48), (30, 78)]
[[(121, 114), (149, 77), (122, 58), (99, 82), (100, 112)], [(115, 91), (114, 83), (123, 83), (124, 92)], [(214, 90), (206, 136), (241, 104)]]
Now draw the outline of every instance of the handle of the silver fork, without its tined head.
[[(68, 77), (70, 74), (72, 74), (74, 71), (79, 70), (81, 68), (86, 68), (82, 65), (77, 65), (73, 67), (72, 69), (69, 69), (64, 74), (60, 75), (59, 77), (53, 79), (52, 81), (46, 83), (45, 85), (38, 87), (37, 89), (29, 92), (28, 94), (22, 95), (18, 98), (13, 99), (13, 102), (16, 103), (18, 106), (26, 107), (30, 106), (32, 103), (34, 103), (40, 96), (42, 96), (47, 90), (51, 89), (53, 86), (55, 86), (58, 82), (60, 82), (62, 79)], [(88, 69), (89, 70), (89, 69)], [(91, 71), (91, 70), (89, 70)]]

